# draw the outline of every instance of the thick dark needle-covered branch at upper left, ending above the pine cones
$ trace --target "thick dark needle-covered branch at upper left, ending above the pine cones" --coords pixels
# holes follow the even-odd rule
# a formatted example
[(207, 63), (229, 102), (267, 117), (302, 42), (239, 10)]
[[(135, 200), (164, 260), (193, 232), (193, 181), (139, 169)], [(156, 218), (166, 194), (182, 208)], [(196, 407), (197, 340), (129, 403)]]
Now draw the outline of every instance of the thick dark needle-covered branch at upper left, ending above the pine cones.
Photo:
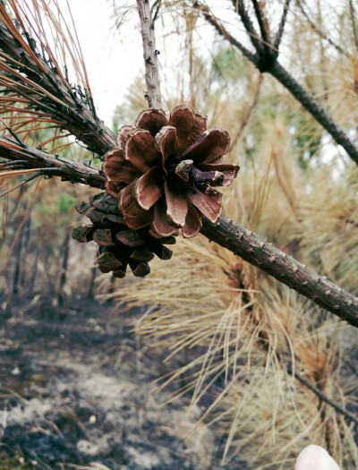
[[(0, 13), (6, 17), (4, 8), (0, 8)], [(2, 84), (6, 77), (8, 83), (5, 87), (15, 92), (19, 101), (25, 100), (24, 111), (30, 109), (51, 116), (55, 123), (59, 123), (58, 127), (71, 132), (89, 150), (102, 156), (115, 146), (115, 135), (98, 119), (89, 91), (83, 92), (79, 86), (74, 89), (62, 80), (55, 64), (38, 54), (36, 42), (30, 38), (28, 31), (23, 31), (23, 34), (33, 51), (26, 47), (24, 40), (16, 40), (12, 31), (0, 20)]]

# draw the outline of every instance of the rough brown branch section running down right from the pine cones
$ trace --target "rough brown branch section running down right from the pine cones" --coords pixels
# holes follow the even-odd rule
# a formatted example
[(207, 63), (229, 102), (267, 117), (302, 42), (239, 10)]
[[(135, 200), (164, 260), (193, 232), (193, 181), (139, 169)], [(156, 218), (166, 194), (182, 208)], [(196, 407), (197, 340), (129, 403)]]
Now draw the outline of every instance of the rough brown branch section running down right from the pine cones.
[(265, 243), (237, 222), (221, 216), (214, 226), (203, 218), (201, 234), (358, 328), (357, 297)]

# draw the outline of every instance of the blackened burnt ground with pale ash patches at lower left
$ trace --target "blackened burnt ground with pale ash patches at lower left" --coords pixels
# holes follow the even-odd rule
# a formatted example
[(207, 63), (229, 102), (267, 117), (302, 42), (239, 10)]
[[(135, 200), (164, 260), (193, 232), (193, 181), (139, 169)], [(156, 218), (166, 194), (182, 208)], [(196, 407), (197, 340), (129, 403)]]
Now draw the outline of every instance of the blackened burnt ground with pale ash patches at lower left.
[[(3, 303), (0, 469), (221, 468), (222, 443), (201, 410), (155, 392), (165, 355), (141, 345), (141, 312), (84, 298)], [(6, 307), (6, 308), (5, 308)], [(244, 468), (243, 462), (225, 468)]]

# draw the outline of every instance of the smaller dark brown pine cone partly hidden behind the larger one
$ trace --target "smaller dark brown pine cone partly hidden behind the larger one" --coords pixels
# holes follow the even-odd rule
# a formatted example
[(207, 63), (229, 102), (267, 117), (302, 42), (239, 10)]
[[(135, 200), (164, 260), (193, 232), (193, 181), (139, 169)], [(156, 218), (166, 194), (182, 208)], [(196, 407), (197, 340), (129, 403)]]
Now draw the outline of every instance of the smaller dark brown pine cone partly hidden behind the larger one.
[(107, 192), (91, 196), (89, 202), (81, 202), (76, 209), (90, 218), (91, 225), (73, 227), (72, 238), (81, 243), (94, 241), (98, 244), (97, 262), (101, 272), (112, 271), (115, 278), (124, 278), (129, 265), (134, 276), (142, 277), (149, 274), (148, 263), (154, 255), (161, 260), (172, 257), (165, 244), (175, 244), (175, 236), (158, 239), (149, 235), (148, 228), (129, 228), (118, 202)]

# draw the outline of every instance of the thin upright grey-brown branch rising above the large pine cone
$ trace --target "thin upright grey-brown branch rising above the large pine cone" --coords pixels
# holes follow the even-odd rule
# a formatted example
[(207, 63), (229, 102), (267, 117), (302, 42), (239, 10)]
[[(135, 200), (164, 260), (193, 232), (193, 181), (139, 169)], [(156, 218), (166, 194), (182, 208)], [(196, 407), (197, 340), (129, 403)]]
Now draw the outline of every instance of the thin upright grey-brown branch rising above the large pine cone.
[(149, 107), (162, 107), (158, 72), (158, 50), (154, 34), (154, 22), (158, 16), (158, 9), (155, 17), (152, 19), (148, 0), (137, 0), (137, 8), (141, 20), (141, 38), (143, 41), (143, 57), (147, 83), (146, 98)]

